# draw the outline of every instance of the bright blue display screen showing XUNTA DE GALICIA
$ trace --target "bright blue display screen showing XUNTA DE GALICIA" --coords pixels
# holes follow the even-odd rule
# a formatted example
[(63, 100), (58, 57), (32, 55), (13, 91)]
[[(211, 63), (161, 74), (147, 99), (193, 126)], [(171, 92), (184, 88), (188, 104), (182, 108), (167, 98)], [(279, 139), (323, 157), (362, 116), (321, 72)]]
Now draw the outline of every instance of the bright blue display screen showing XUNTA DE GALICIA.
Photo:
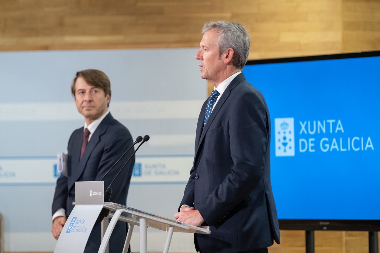
[(257, 62), (279, 219), (380, 220), (380, 56)]

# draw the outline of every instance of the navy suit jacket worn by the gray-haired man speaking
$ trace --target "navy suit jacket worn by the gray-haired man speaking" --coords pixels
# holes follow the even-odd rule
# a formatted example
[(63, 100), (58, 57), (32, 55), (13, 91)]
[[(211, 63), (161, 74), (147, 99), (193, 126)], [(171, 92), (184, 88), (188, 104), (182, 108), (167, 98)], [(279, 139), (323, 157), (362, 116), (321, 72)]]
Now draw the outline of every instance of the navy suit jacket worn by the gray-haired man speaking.
[(237, 75), (203, 126), (207, 101), (180, 204), (199, 210), (203, 225), (210, 226), (211, 234), (196, 234), (196, 250), (231, 253), (279, 243), (270, 179), (271, 120), (263, 95)]

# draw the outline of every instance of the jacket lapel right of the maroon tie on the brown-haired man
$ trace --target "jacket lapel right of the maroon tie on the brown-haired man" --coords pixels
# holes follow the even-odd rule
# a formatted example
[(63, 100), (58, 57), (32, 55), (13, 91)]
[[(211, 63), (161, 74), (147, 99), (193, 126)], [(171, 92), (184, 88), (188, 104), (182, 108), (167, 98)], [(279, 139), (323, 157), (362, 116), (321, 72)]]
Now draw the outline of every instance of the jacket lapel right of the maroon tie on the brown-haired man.
[[(112, 122), (114, 118), (112, 117), (111, 113), (109, 113), (99, 124), (95, 132), (92, 134), (90, 141), (87, 143), (86, 149), (84, 150), (84, 153), (82, 155), (82, 158), (80, 158), (78, 166), (72, 171), (72, 177), (71, 177), (71, 185), (68, 185), (68, 188), (70, 189), (76, 181), (81, 177), (83, 174), (84, 169), (86, 168), (87, 160), (89, 160), (89, 157), (92, 153), (92, 150), (95, 148), (95, 146), (100, 141), (100, 136), (103, 135), (109, 124)], [(82, 134), (83, 138), (83, 134)], [(79, 144), (79, 150), (82, 147), (82, 142), (78, 142)], [(80, 155), (80, 151), (79, 151)]]

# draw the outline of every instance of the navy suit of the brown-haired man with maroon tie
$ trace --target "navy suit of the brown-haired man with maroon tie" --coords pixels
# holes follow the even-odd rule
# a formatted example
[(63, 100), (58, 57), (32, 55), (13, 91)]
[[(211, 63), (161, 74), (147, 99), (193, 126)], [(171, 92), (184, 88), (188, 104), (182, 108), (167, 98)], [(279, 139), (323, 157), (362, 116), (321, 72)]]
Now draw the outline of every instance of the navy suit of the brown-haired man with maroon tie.
[[(128, 129), (115, 120), (111, 113), (109, 113), (92, 134), (83, 156), (80, 158), (82, 142), (83, 127), (75, 130), (69, 139), (67, 147), (68, 177), (60, 176), (57, 179), (52, 204), (53, 214), (59, 208), (63, 208), (66, 210), (66, 217), (68, 217), (74, 208), (72, 203), (75, 201), (75, 182), (99, 181), (134, 141)], [(128, 151), (117, 166), (103, 179), (105, 188), (108, 187), (133, 151), (134, 149)], [(135, 157), (130, 160), (114, 183), (112, 183), (110, 202), (122, 205), (127, 204), (127, 193), (134, 164)], [(126, 236), (127, 224), (119, 221), (109, 241), (109, 252), (122, 252)], [(98, 252), (100, 243), (101, 226), (100, 223), (97, 223), (90, 234), (84, 252)]]

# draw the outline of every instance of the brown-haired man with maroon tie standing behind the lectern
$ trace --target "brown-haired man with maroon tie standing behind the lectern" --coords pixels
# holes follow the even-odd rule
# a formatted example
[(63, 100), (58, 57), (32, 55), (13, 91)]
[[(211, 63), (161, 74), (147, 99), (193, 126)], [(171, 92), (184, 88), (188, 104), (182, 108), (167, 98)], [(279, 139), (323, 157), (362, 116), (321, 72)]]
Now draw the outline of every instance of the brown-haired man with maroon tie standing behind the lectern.
[[(83, 70), (76, 73), (71, 84), (78, 112), (84, 116), (84, 127), (75, 130), (68, 142), (68, 176), (57, 179), (52, 204), (52, 234), (59, 238), (63, 225), (70, 215), (75, 201), (76, 181), (99, 181), (132, 144), (128, 129), (114, 119), (108, 111), (111, 100), (111, 84), (105, 73), (99, 70)], [(111, 183), (123, 164), (132, 155), (131, 149), (103, 179), (105, 187)], [(135, 158), (123, 169), (112, 184), (111, 202), (127, 203), (127, 193)], [(119, 221), (109, 240), (109, 252), (122, 252), (127, 223)], [(101, 243), (101, 224), (95, 224), (85, 248), (86, 253), (98, 252)]]

